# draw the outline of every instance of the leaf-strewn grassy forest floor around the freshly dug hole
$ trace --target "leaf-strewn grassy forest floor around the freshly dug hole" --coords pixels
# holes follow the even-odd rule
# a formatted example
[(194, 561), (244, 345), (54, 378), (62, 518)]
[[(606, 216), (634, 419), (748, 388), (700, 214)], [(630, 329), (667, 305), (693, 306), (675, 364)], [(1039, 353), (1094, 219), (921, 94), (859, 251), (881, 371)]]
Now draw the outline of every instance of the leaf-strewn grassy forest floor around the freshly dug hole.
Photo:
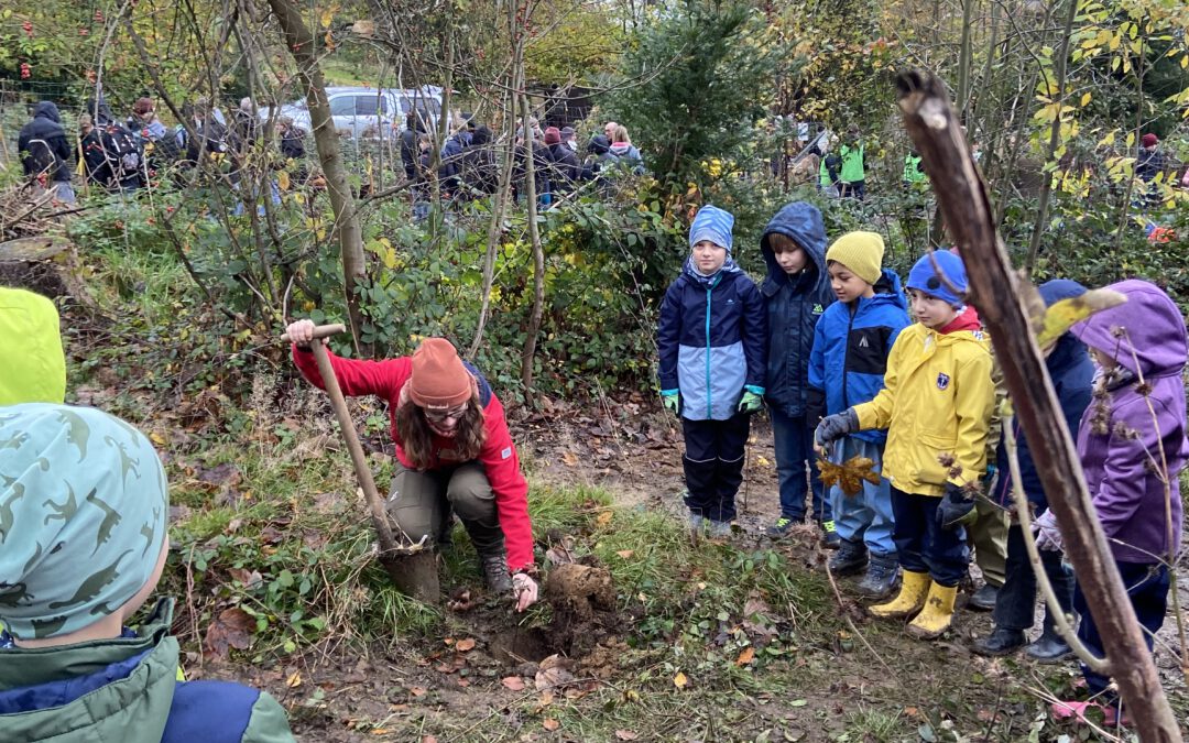
[[(202, 403), (159, 410), (157, 421), (176, 426), (195, 404)], [(235, 493), (276, 487), (268, 468), (237, 464), (235, 456), (257, 445), (277, 446), (282, 459), (338, 448), (319, 401), (287, 404), (287, 413), (271, 414), (264, 430), (272, 433), (263, 443), (250, 434), (254, 443), (237, 447), (220, 465), (184, 455), (171, 461), (174, 471), (190, 474), (175, 486), (175, 496), (181, 493), (175, 502), (197, 503), (191, 491), (208, 502), (212, 492), (216, 500), (234, 500)], [(301, 420), (302, 405), (322, 411)], [(363, 410), (360, 417), (372, 448), (383, 449), (383, 416)], [(514, 615), (507, 602), (483, 596), (473, 550), (459, 528), (461, 543), (443, 558), (443, 593), (452, 599), (443, 609), (373, 600), (366, 611), (384, 616), (372, 616), (382, 629), (371, 637), (331, 626), (288, 653), (260, 649), (264, 635), (232, 643), (240, 651), (212, 651), (207, 629), (200, 654), (195, 638), (209, 612), (193, 609), (196, 596), (203, 599), (193, 586), (191, 547), (190, 585), (175, 584), (191, 606), (193, 631), (180, 632), (190, 650), (190, 676), (268, 688), (288, 707), (302, 741), (1130, 739), (1126, 731), (1052, 719), (1048, 701), (1077, 694), (1076, 665), (973, 655), (968, 644), (989, 631), (989, 615), (962, 610), (942, 640), (912, 640), (901, 625), (866, 616), (850, 591), (854, 579), (839, 579), (835, 592), (823, 567), (829, 553), (814, 527), (779, 543), (767, 540), (763, 529), (779, 509), (763, 418), (748, 449), (740, 529), (717, 544), (688, 541), (679, 495), (680, 432), (641, 397), (591, 409), (549, 402), (539, 414), (514, 410), (510, 418), (533, 483), (530, 508), (545, 561), (552, 569), (570, 562), (606, 568), (615, 580), (610, 598), (594, 590), (577, 606), (547, 585), (541, 606)], [(161, 439), (178, 436), (169, 424), (150, 428)], [(345, 452), (335, 459), (345, 461)], [(386, 455), (373, 460), (383, 470)], [(228, 462), (241, 471), (231, 486), (219, 470)], [(327, 505), (334, 493), (323, 490), (350, 492), (345, 467), (303, 480), (297, 490), (304, 493), (289, 496), (291, 503), (304, 500), (307, 512), (339, 508)], [(361, 504), (352, 503), (361, 512)], [(201, 506), (181, 508), (188, 509), (181, 522), (193, 525)], [(253, 517), (251, 508), (243, 518)], [(294, 505), (291, 517), (271, 516), (277, 525), (262, 535), (292, 530), (298, 511)], [(233, 527), (234, 518), (224, 524)], [(303, 534), (309, 542), (310, 530)], [(326, 539), (317, 539), (321, 549)], [(251, 567), (241, 560), (228, 574), (241, 579), (234, 571)], [(1184, 581), (1181, 587), (1189, 588)], [(1172, 624), (1170, 618), (1162, 632), (1172, 650), (1162, 650), (1158, 662), (1178, 718), (1185, 719), (1189, 695), (1174, 655)]]

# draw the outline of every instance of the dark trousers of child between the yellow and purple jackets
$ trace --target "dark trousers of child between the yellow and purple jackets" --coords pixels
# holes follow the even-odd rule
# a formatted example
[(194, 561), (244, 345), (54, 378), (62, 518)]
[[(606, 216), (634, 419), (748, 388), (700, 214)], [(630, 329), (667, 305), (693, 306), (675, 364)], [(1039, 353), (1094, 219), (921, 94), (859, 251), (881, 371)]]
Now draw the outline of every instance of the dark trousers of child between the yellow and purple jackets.
[[(1040, 565), (1057, 594), (1057, 603), (1067, 613), (1074, 605), (1074, 571), (1065, 566), (1062, 554), (1051, 549), (1040, 550)], [(995, 626), (1009, 630), (1030, 630), (1036, 615), (1037, 575), (1032, 572), (1027, 549), (1024, 547), (1024, 529), (1012, 524), (1007, 530), (1006, 578), (995, 598)], [(1045, 606), (1044, 631), (1052, 631), (1052, 615)]]

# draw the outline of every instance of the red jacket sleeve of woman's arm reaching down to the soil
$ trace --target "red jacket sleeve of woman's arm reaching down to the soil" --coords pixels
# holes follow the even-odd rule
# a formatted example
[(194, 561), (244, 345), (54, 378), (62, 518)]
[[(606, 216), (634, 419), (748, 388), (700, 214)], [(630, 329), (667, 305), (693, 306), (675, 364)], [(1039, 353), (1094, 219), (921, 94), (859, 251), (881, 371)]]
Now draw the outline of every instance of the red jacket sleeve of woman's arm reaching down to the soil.
[(484, 414), (487, 440), (479, 452), (479, 461), (496, 495), (499, 528), (504, 533), (504, 544), (508, 548), (508, 569), (531, 567), (533, 522), (528, 515), (528, 481), (521, 473), (516, 445), (512, 443), (512, 436), (508, 432), (504, 407), (498, 397), (491, 396)]

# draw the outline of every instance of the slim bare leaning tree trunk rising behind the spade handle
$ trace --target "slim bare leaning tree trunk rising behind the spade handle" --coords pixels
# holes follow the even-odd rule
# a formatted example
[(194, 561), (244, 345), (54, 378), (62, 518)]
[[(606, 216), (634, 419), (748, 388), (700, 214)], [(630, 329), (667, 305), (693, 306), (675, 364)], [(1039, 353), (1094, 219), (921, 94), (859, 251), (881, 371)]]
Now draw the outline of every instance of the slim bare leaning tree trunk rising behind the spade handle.
[(356, 353), (370, 355), (370, 344), (365, 348), (359, 340), (363, 332), (364, 315), (359, 307), (359, 289), (367, 279), (367, 266), (364, 260), (364, 235), (356, 212), (356, 199), (347, 183), (347, 171), (342, 164), (342, 152), (339, 150), (339, 134), (331, 118), (331, 102), (326, 97), (326, 81), (317, 64), (317, 49), (314, 34), (301, 17), (301, 11), (292, 0), (269, 0), (269, 7), (285, 37), (285, 46), (297, 63), (297, 78), (306, 88), (306, 103), (309, 106), (309, 124), (314, 130), (314, 144), (317, 147), (317, 159), (326, 178), (326, 191), (334, 212), (334, 229), (339, 238), (339, 251), (342, 256), (344, 292), (347, 301), (347, 314), (351, 319), (351, 338)]

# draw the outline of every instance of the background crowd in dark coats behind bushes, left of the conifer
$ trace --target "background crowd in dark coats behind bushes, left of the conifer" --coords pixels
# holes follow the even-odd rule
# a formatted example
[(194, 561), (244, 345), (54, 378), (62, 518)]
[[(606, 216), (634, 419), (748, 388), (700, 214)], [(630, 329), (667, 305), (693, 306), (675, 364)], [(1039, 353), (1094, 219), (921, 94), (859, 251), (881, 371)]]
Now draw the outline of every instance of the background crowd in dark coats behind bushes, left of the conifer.
[[(225, 114), (205, 97), (185, 102), (177, 112), (181, 121), (166, 126), (149, 96), (136, 100), (130, 114), (119, 119), (102, 96), (87, 101), (77, 117), (77, 138), (62, 125), (57, 105), (38, 103), (18, 143), (25, 175), (52, 191), (62, 203), (74, 203), (75, 182), (86, 182), (109, 193), (131, 194), (157, 184), (174, 165), (193, 166), (203, 158), (220, 163), (229, 183), (238, 188), (250, 153), (260, 151), (266, 119), (256, 102), (244, 97)], [(470, 201), (493, 194), (499, 187), (502, 157), (498, 136), (471, 113), (447, 117), (448, 134), (438, 147), (434, 131), (439, 120), (427, 111), (410, 111), (403, 126), (394, 122), (394, 144), (400, 153), (398, 172), (411, 185), (414, 203), (428, 209), (436, 185), (443, 200)], [(269, 168), (295, 163), (298, 183), (308, 182), (308, 132), (288, 115), (276, 118), (263, 151)], [(584, 183), (605, 184), (614, 172), (644, 172), (640, 150), (628, 128), (608, 121), (585, 147), (572, 126), (541, 126), (535, 117), (524, 119), (512, 143), (511, 190), (517, 200), (528, 194), (526, 177), (531, 163), (533, 185), (541, 207), (572, 194)], [(257, 160), (262, 162), (262, 160)], [(273, 187), (273, 200), (277, 194)], [(241, 206), (240, 206), (241, 208)]]

